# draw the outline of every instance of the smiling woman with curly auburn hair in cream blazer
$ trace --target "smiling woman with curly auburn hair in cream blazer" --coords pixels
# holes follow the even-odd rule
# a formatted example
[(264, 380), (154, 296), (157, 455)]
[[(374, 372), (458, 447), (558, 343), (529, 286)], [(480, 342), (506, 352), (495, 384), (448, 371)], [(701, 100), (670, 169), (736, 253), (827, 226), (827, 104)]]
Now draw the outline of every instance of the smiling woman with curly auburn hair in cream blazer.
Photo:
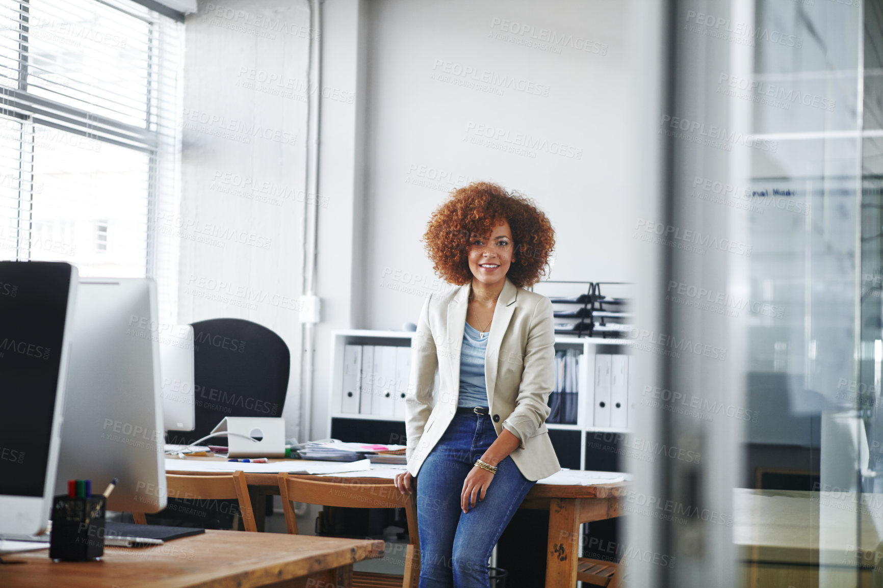
[(435, 271), (460, 287), (420, 311), (396, 488), (417, 493), (420, 588), (487, 588), (518, 505), (561, 469), (545, 424), (552, 304), (524, 290), (546, 273), (555, 231), (531, 200), (476, 182), (433, 213), (423, 240)]

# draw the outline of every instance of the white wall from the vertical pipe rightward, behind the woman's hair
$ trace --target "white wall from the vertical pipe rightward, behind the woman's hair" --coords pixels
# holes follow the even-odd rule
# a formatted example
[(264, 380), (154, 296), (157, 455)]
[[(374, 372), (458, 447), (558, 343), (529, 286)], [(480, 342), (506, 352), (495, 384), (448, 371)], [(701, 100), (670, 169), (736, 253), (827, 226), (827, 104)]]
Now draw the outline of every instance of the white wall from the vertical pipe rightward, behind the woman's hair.
[[(622, 4), (327, 0), (322, 10), (325, 94), (355, 99), (322, 101), (319, 192), (328, 210), (319, 211), (313, 438), (328, 435), (330, 332), (401, 328), (445, 287), (419, 237), (447, 192), (473, 179), (524, 192), (555, 225), (556, 279), (629, 281), (623, 211), (626, 177), (637, 173), (623, 132), (634, 102)], [(510, 22), (534, 28), (502, 31)], [(517, 44), (551, 33), (564, 39), (552, 50)], [(479, 82), (530, 86), (499, 95), (431, 79), (445, 62), (472, 67)], [(472, 145), (466, 130), (479, 124), (545, 143), (528, 147), (533, 156)], [(561, 144), (578, 158), (550, 153)]]

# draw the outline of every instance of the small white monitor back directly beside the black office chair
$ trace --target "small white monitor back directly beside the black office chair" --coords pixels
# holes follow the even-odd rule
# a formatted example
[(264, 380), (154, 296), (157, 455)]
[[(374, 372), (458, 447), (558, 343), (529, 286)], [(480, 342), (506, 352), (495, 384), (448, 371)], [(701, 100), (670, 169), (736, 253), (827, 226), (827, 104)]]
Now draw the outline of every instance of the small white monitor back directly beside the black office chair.
[(160, 334), (162, 420), (166, 431), (192, 431), (196, 426), (193, 394), (193, 328), (163, 326)]

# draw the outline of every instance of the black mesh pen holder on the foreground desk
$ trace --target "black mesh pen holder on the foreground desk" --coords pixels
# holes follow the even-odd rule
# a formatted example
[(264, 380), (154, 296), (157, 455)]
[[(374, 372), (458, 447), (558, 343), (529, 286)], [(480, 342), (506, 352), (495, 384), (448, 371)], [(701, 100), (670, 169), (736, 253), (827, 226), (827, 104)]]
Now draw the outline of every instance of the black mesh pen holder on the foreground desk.
[(104, 554), (104, 507), (107, 499), (71, 498), (64, 494), (52, 502), (49, 559), (89, 562)]

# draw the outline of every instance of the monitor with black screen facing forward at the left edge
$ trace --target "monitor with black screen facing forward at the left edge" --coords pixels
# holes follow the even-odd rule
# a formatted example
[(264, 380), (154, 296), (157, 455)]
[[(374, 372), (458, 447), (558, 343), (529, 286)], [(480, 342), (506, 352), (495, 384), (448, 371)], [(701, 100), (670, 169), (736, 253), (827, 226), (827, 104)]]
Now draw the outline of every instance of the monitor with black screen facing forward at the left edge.
[(70, 264), (0, 261), (0, 535), (49, 522), (76, 293)]

